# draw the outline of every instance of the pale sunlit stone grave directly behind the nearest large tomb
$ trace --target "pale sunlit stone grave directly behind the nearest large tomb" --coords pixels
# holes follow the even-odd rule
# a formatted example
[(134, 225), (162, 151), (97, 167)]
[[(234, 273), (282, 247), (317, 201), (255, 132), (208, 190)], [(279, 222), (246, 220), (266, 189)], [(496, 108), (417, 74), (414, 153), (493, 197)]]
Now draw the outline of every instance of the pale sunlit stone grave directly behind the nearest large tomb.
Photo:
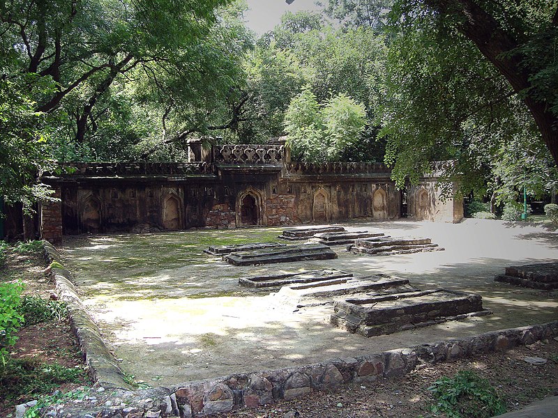
[(297, 308), (333, 304), (346, 300), (347, 295), (372, 297), (417, 291), (409, 280), (391, 277), (387, 274), (373, 274), (364, 277), (345, 277), (338, 281), (312, 281), (306, 284), (283, 286), (277, 297), (285, 303), (295, 304)]

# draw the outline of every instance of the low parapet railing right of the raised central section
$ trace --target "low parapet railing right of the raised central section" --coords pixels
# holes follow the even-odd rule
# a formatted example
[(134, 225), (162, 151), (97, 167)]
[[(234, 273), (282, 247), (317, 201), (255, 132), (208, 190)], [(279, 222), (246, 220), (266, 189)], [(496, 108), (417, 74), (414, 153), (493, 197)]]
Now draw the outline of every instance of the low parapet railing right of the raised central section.
[(285, 169), (290, 176), (391, 173), (386, 164), (378, 162), (290, 162)]

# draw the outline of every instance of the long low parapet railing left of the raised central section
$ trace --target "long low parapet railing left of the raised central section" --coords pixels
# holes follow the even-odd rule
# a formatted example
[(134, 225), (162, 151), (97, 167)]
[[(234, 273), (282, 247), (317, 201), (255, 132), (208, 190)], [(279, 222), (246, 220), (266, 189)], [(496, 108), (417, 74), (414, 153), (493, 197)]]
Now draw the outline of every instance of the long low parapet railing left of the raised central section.
[(212, 164), (206, 162), (64, 162), (59, 164), (61, 174), (45, 176), (204, 176), (213, 174)]

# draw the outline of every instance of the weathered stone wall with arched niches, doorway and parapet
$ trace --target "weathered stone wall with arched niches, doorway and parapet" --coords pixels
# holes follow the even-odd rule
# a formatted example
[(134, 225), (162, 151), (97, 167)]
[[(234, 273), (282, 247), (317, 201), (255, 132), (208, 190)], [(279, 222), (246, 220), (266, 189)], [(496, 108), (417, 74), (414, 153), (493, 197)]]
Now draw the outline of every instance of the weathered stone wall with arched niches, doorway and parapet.
[[(56, 241), (61, 233), (322, 224), (401, 216), (402, 194), (384, 164), (289, 162), (282, 145), (195, 151), (193, 157), (204, 161), (64, 164), (66, 174), (43, 176), (61, 196), (59, 207), (41, 208), (43, 235)], [(407, 212), (416, 219), (460, 219), (452, 200), (440, 201), (435, 180), (425, 178), (409, 189)]]

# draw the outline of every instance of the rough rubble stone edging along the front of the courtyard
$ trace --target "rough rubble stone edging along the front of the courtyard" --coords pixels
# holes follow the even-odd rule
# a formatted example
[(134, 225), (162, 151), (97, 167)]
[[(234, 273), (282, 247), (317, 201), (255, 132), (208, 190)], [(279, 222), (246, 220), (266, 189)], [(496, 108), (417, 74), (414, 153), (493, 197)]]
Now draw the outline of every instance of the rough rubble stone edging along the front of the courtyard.
[[(159, 418), (206, 417), (243, 408), (257, 408), (292, 400), (315, 390), (335, 389), (349, 382), (374, 382), (402, 376), (421, 364), (504, 351), (558, 336), (558, 321), (542, 325), (487, 332), (466, 339), (428, 343), (359, 357), (340, 357), (324, 363), (276, 371), (239, 373), (137, 392), (118, 389), (86, 398), (94, 405), (57, 405), (52, 417)], [(104, 390), (104, 389), (103, 389)], [(117, 405), (117, 406), (112, 406)]]

